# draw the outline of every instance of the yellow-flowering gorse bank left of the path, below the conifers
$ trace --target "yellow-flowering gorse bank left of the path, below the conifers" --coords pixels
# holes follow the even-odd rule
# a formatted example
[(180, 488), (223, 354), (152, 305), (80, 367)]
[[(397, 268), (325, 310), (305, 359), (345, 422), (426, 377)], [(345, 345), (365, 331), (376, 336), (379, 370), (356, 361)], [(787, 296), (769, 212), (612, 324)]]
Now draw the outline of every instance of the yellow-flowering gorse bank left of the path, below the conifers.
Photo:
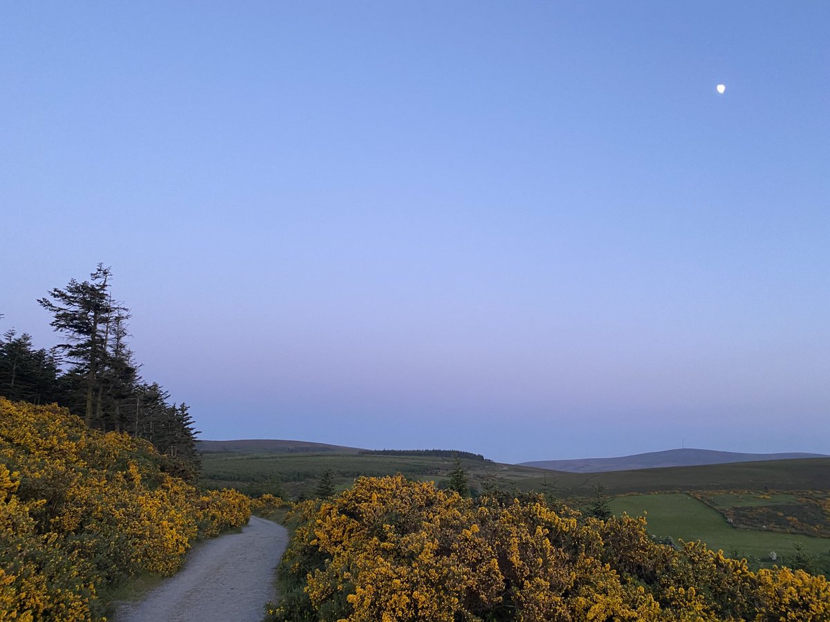
[(247, 522), (242, 494), (168, 468), (147, 441), (0, 397), (0, 620), (98, 619), (100, 590), (171, 574), (195, 537)]

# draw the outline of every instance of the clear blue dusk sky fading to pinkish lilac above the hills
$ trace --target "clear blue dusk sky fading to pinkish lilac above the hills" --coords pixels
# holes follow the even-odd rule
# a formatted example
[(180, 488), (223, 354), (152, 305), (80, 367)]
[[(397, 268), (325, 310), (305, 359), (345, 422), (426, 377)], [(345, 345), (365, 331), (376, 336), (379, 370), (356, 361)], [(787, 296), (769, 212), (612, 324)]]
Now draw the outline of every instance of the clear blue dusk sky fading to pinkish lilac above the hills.
[(830, 454), (828, 27), (2, 2), (0, 330), (103, 262), (204, 439)]

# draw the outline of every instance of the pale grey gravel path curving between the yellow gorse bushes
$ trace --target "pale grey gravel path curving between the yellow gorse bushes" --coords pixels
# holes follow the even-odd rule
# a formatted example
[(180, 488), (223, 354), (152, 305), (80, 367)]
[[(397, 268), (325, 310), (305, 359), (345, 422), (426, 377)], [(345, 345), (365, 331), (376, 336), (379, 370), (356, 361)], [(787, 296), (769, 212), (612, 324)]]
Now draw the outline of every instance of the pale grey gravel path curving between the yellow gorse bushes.
[(287, 543), (285, 527), (252, 516), (242, 533), (203, 542), (141, 601), (121, 603), (115, 622), (261, 622)]

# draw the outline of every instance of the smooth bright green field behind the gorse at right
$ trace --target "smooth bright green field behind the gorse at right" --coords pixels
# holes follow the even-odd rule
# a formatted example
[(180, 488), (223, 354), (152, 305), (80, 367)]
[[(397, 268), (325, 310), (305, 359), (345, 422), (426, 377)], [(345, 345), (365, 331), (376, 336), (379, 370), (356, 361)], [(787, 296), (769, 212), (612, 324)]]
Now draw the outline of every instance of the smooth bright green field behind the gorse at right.
[(746, 557), (755, 564), (770, 566), (772, 551), (778, 553), (780, 564), (781, 556), (792, 555), (793, 544), (798, 542), (804, 552), (818, 557), (821, 567), (830, 567), (830, 538), (736, 529), (720, 513), (684, 493), (628, 495), (613, 499), (611, 507), (614, 513), (629, 516), (646, 513), (648, 531), (655, 536), (701, 540), (714, 551)]

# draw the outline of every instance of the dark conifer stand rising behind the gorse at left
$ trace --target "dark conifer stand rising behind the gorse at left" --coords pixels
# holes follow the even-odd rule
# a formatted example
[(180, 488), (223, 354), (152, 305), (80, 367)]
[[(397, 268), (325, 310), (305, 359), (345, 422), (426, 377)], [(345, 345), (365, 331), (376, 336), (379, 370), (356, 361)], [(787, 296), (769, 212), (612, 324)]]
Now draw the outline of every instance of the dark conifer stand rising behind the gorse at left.
[(184, 403), (170, 402), (159, 384), (139, 374), (127, 343), (129, 309), (113, 297), (112, 272), (99, 264), (82, 283), (71, 279), (38, 304), (51, 313), (61, 336), (37, 349), (12, 328), (0, 340), (0, 395), (32, 404), (56, 402), (105, 432), (149, 440), (169, 458), (173, 474), (193, 479), (198, 454), (193, 418)]

